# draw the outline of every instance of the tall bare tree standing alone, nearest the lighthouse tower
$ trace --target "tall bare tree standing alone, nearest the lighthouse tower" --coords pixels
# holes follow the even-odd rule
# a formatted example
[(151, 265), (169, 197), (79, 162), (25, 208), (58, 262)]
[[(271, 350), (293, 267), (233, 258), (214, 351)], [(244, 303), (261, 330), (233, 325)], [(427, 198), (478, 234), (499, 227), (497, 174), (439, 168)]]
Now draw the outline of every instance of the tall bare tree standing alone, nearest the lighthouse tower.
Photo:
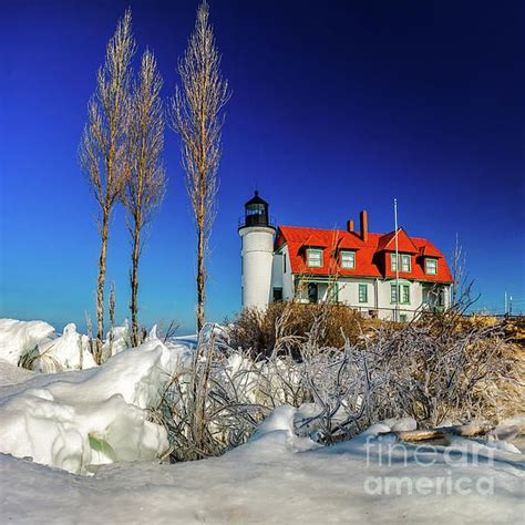
[(222, 110), (228, 102), (228, 81), (220, 73), (220, 54), (209, 24), (206, 1), (197, 10), (195, 29), (178, 62), (181, 86), (172, 99), (169, 124), (181, 135), (186, 188), (197, 226), (197, 330), (204, 322), (206, 253), (216, 215), (222, 153)]

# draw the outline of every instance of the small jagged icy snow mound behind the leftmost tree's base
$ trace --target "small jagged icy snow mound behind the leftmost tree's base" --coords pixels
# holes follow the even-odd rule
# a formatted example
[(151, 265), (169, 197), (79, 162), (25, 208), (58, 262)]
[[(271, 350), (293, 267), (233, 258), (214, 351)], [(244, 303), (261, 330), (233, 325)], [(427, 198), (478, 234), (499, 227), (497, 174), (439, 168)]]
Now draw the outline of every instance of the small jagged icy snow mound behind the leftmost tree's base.
[(37, 372), (62, 372), (64, 370), (84, 370), (96, 367), (90, 351), (90, 339), (76, 331), (76, 326), (69, 323), (59, 338), (38, 346), (32, 361)]

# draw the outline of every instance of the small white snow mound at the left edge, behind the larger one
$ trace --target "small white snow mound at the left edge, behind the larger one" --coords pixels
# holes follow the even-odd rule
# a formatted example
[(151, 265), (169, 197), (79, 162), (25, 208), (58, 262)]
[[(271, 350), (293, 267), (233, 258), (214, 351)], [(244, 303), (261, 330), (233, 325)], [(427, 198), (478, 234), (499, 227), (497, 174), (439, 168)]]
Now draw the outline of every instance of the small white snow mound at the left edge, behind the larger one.
[(20, 356), (53, 333), (54, 328), (44, 321), (0, 319), (0, 359), (18, 364)]

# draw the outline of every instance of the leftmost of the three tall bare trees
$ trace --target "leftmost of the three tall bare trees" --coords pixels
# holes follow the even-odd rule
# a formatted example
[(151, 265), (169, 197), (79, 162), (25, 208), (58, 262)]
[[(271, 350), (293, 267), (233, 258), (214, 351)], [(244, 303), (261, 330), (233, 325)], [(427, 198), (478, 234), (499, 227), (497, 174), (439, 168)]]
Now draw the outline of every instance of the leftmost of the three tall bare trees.
[(87, 107), (87, 123), (80, 144), (80, 161), (100, 206), (101, 254), (96, 286), (96, 354), (100, 362), (104, 337), (104, 282), (110, 216), (127, 177), (126, 128), (130, 109), (131, 61), (135, 52), (132, 17), (127, 10), (106, 49), (96, 74), (96, 90)]

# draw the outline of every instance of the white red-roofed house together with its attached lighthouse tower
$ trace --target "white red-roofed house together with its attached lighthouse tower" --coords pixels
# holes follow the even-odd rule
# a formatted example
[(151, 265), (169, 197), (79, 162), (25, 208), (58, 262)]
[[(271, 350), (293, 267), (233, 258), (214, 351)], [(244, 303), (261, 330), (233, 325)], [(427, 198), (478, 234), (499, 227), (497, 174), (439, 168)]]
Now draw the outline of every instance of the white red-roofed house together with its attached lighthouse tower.
[(245, 205), (239, 235), (243, 307), (332, 301), (366, 317), (403, 321), (450, 305), (453, 279), (443, 254), (403, 228), (397, 235), (369, 233), (367, 212), (359, 231), (353, 220), (344, 230), (275, 227), (268, 203), (256, 192)]

